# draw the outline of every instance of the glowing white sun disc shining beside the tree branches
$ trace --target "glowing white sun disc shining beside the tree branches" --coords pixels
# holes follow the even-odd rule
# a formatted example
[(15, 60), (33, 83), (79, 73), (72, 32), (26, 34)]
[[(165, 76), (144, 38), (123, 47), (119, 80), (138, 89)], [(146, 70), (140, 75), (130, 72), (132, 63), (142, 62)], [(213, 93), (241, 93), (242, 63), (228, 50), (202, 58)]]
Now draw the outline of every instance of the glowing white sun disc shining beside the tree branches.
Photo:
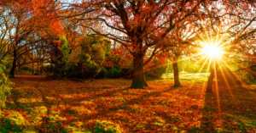
[(203, 43), (201, 52), (209, 58), (221, 58), (224, 54), (221, 47), (213, 45), (212, 43)]

